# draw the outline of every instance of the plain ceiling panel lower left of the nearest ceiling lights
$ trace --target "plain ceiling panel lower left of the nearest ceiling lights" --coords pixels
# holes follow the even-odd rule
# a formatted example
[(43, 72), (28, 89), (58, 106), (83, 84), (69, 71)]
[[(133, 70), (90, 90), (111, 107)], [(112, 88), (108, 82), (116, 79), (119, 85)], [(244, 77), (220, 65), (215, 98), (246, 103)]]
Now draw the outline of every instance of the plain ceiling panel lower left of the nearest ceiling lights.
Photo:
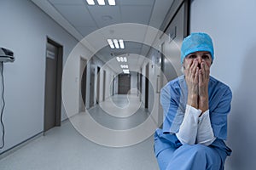
[(85, 5), (55, 5), (73, 26), (96, 26)]

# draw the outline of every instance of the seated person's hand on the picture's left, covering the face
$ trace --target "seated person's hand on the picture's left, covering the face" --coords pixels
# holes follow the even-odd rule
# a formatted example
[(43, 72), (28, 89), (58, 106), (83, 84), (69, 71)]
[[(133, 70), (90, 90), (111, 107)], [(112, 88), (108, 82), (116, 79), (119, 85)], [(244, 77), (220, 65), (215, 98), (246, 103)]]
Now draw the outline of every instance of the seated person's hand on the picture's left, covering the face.
[(185, 62), (185, 80), (188, 86), (188, 105), (198, 108), (199, 95), (199, 67), (198, 60), (193, 59), (191, 62)]

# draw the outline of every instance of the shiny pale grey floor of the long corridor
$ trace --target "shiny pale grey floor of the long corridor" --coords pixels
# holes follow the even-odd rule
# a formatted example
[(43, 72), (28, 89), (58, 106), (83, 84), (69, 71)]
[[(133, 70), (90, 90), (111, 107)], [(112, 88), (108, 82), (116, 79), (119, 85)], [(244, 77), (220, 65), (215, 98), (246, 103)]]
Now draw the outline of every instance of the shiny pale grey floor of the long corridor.
[[(148, 118), (148, 112), (137, 105), (138, 98), (116, 95), (89, 110), (90, 116), (111, 129), (137, 127)], [(109, 115), (106, 111), (112, 102), (123, 111), (120, 117)], [(137, 108), (132, 115), (132, 108)], [(135, 106), (134, 106), (135, 105)], [(126, 107), (126, 109), (125, 109)], [(127, 111), (130, 109), (130, 111)], [(110, 110), (111, 111), (111, 108)], [(107, 112), (108, 112), (107, 111)], [(118, 114), (118, 112), (113, 114)], [(74, 119), (80, 119), (85, 113), (79, 113)], [(84, 138), (73, 124), (63, 122), (61, 127), (54, 127), (44, 136), (33, 140), (19, 150), (0, 160), (1, 170), (158, 170), (154, 158), (154, 139), (151, 135), (143, 142), (126, 147), (108, 147), (96, 144)]]

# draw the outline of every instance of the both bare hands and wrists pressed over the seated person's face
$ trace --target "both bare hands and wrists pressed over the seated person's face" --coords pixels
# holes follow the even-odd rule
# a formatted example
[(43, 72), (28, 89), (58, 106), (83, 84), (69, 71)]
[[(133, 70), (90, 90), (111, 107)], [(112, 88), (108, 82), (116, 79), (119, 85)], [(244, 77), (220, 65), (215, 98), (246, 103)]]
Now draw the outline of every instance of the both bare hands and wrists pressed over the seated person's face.
[(208, 106), (208, 83), (210, 65), (204, 59), (188, 59), (184, 65), (184, 75), (188, 86), (187, 105), (191, 105), (203, 112)]

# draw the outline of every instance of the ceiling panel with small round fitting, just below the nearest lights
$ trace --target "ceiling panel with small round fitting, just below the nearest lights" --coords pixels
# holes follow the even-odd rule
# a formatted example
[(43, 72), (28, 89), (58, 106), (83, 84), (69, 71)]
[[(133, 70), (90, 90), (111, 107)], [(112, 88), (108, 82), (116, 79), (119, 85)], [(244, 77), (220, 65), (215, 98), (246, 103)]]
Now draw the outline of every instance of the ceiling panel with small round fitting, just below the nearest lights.
[(121, 22), (119, 6), (88, 6), (88, 9), (100, 28)]

